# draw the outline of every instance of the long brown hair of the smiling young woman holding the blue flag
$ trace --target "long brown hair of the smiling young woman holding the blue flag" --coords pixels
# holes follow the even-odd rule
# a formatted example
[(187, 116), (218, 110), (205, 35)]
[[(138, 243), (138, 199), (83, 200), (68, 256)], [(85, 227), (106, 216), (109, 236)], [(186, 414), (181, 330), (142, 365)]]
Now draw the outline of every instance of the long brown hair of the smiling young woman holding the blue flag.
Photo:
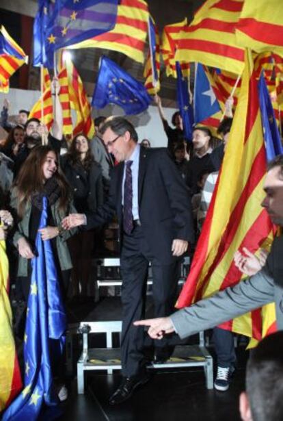
[(21, 167), (18, 177), (14, 183), (18, 194), (17, 211), (18, 216), (21, 218), (23, 218), (27, 201), (31, 199), (31, 194), (35, 192), (42, 192), (44, 188), (42, 166), (49, 152), (55, 153), (57, 158), (57, 171), (53, 177), (57, 180), (61, 192), (59, 196), (59, 208), (64, 210), (67, 209), (70, 194), (68, 183), (59, 168), (58, 155), (51, 146), (36, 146), (32, 149), (31, 153), (29, 153), (29, 156)]

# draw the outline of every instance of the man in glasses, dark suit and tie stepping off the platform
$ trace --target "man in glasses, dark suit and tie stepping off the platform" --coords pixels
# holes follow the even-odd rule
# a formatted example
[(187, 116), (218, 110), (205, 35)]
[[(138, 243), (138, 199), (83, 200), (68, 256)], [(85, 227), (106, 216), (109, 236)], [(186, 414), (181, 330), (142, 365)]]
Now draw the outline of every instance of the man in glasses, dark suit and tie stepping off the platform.
[[(111, 118), (101, 129), (103, 142), (116, 161), (107, 202), (95, 214), (73, 214), (70, 228), (102, 225), (117, 214), (120, 225), (122, 272), (122, 374), (112, 405), (148, 381), (144, 359), (144, 331), (133, 322), (144, 314), (148, 263), (152, 265), (152, 294), (156, 316), (173, 309), (180, 256), (193, 241), (189, 192), (166, 149), (146, 149), (122, 117)], [(167, 343), (157, 341), (157, 359), (166, 359)]]

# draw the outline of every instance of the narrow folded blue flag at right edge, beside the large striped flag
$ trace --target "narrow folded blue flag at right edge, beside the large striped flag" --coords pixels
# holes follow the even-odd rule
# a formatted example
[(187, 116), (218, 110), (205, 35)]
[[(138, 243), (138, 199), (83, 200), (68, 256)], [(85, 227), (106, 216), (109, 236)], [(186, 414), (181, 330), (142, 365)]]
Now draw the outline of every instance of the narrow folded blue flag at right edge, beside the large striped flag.
[(260, 80), (258, 81), (258, 96), (265, 149), (267, 151), (267, 162), (269, 162), (276, 155), (283, 153), (283, 146), (263, 73), (260, 75)]

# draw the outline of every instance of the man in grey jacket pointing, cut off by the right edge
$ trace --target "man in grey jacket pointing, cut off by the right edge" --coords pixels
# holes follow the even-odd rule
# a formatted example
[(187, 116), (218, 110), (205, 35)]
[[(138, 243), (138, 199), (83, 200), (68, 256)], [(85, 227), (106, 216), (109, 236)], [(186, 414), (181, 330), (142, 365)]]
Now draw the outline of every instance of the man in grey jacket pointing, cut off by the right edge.
[[(274, 224), (283, 227), (283, 155), (269, 163), (265, 178), (266, 192), (262, 206), (267, 209)], [(170, 317), (140, 320), (136, 326), (149, 326), (148, 334), (162, 338), (165, 333), (176, 331), (183, 339), (217, 324), (231, 320), (262, 305), (275, 302), (276, 322), (283, 330), (283, 235), (273, 240), (265, 266), (256, 275), (239, 282), (231, 288), (217, 292), (210, 298), (185, 307)], [(245, 267), (247, 256), (239, 260)]]

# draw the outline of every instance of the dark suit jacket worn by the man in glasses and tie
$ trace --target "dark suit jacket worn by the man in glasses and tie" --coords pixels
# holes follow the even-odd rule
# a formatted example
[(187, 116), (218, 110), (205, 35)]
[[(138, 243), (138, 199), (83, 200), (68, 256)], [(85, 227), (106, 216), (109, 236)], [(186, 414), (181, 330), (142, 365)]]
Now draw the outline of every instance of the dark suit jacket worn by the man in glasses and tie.
[[(95, 214), (87, 214), (87, 229), (118, 216), (122, 240), (122, 179), (124, 163), (113, 168), (109, 197)], [(189, 192), (166, 149), (146, 149), (139, 155), (139, 219), (150, 252), (163, 264), (172, 262), (172, 240), (193, 242)]]

